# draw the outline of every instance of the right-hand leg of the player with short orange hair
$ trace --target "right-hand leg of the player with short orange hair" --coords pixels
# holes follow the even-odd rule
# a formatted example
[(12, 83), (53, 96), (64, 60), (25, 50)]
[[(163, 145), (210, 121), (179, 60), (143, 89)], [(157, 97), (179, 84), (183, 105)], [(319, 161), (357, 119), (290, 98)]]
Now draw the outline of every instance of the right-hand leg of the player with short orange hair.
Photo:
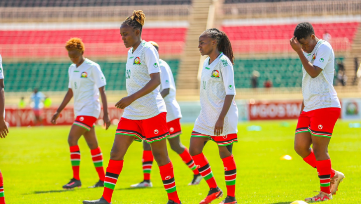
[(91, 158), (99, 176), (99, 181), (89, 188), (104, 187), (105, 172), (103, 168), (103, 154), (98, 146), (94, 125), (91, 127), (90, 131), (84, 133), (84, 138), (90, 148)]

